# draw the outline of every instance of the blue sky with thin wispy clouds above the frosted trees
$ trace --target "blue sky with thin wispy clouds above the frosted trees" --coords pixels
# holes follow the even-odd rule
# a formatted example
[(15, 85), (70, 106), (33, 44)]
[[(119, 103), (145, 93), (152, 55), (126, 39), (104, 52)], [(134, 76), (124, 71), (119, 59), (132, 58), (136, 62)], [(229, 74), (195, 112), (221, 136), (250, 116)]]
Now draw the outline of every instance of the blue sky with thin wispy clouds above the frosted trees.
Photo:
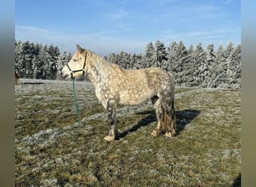
[(241, 43), (240, 0), (16, 0), (15, 39), (53, 44), (76, 52), (76, 44), (99, 55), (139, 54), (149, 42)]

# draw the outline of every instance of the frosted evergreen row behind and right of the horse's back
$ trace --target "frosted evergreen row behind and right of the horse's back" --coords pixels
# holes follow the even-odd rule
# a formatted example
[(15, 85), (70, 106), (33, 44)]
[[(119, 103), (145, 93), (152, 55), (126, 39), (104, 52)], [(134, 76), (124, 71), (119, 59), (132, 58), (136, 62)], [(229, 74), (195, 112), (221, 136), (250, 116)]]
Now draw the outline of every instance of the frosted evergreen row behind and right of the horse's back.
[(126, 69), (161, 67), (171, 72), (176, 85), (200, 88), (241, 88), (241, 45), (230, 42), (217, 50), (210, 43), (206, 49), (198, 43), (186, 48), (183, 41), (168, 47), (156, 40), (149, 42), (140, 55), (111, 53), (106, 59)]

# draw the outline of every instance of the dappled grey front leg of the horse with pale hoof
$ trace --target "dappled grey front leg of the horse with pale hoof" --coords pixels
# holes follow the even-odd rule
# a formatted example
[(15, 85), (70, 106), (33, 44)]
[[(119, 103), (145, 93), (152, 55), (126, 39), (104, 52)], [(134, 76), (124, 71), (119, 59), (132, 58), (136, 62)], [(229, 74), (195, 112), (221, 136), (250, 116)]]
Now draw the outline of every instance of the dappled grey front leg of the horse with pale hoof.
[(108, 112), (109, 135), (107, 135), (104, 140), (114, 141), (118, 136), (118, 126), (115, 118), (115, 107), (108, 104), (106, 109)]

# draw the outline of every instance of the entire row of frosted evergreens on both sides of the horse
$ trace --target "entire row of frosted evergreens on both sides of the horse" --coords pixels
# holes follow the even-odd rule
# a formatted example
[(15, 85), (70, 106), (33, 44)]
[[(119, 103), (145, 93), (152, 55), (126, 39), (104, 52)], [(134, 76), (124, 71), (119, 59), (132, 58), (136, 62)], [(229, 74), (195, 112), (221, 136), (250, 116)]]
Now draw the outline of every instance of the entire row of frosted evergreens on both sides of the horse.
[[(15, 43), (15, 69), (23, 78), (60, 79), (62, 67), (71, 54), (58, 46), (43, 46), (29, 41)], [(230, 42), (217, 49), (210, 43), (206, 49), (198, 43), (187, 48), (183, 41), (168, 47), (160, 41), (149, 42), (141, 54), (112, 52), (106, 60), (126, 69), (161, 67), (171, 72), (176, 85), (200, 88), (241, 88), (241, 45)]]

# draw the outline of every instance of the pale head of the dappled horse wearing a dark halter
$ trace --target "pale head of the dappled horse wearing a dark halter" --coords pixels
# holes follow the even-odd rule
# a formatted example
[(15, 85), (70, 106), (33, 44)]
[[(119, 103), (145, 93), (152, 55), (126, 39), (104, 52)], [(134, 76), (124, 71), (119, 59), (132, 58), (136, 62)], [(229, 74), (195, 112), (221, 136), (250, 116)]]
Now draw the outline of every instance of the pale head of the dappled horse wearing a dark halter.
[(85, 75), (85, 65), (88, 52), (82, 49), (79, 45), (76, 45), (77, 51), (61, 70), (61, 76), (63, 79), (80, 78)]

